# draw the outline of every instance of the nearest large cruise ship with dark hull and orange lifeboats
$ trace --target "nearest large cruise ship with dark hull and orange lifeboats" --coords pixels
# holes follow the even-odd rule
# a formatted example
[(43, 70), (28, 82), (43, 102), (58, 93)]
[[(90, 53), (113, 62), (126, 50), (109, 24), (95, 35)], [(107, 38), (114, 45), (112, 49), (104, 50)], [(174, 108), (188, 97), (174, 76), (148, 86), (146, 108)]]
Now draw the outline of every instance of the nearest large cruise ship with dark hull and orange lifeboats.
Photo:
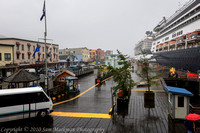
[(200, 72), (200, 0), (190, 0), (153, 29), (151, 51), (164, 66)]

